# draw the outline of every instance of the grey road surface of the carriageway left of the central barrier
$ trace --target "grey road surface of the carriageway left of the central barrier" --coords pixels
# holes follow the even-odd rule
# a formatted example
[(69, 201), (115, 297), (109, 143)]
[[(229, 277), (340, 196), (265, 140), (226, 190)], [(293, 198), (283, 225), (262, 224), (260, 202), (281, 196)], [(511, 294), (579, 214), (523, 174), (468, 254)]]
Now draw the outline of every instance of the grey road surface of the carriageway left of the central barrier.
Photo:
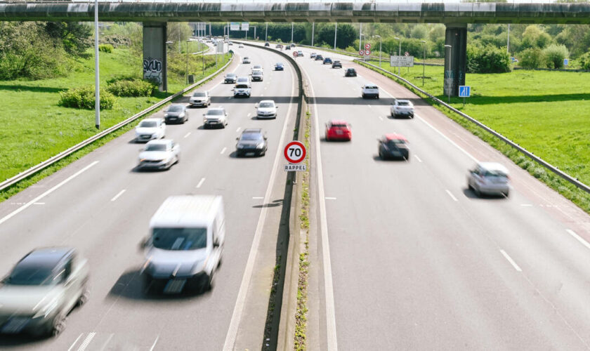
[[(252, 97), (244, 99), (232, 98), (232, 84), (223, 84), (223, 74), (202, 87), (211, 91), (211, 107), (225, 107), (229, 125), (205, 130), (206, 109), (195, 108), (189, 109), (187, 124), (166, 126), (166, 138), (181, 145), (181, 161), (169, 171), (137, 171), (143, 145), (134, 143), (134, 131), (129, 131), (0, 204), (2, 274), (42, 246), (72, 246), (89, 260), (91, 270), (90, 299), (72, 311), (58, 338), (2, 336), (1, 349), (221, 350), (227, 340), (242, 345), (240, 334), (231, 335), (228, 329), (233, 323), (237, 330), (249, 330), (243, 325), (248, 321), (232, 318), (248, 308), (249, 294), (241, 289), (249, 286), (253, 274), (251, 251), (258, 258), (270, 253), (273, 264), (262, 270), (270, 290), (275, 244), (261, 239), (261, 233), (276, 236), (286, 177), (280, 155), (294, 128), (297, 87), (289, 65), (282, 72), (273, 71), (280, 55), (237, 45), (230, 48), (237, 55), (226, 72), (244, 76), (252, 65), (261, 64), (264, 81), (254, 82)], [(252, 65), (241, 64), (244, 55)], [(255, 103), (267, 99), (280, 107), (277, 119), (256, 120)], [(188, 97), (181, 102), (188, 102)], [(155, 117), (163, 117), (163, 112)], [(265, 157), (235, 157), (235, 139), (244, 128), (266, 131)], [(176, 194), (223, 195), (223, 264), (211, 292), (146, 295), (138, 274), (144, 262), (139, 244), (147, 237), (152, 214), (166, 197)], [(268, 304), (268, 296), (261, 296)], [(261, 312), (265, 317), (266, 311)], [(259, 348), (262, 330), (252, 334), (256, 343), (244, 345)]]

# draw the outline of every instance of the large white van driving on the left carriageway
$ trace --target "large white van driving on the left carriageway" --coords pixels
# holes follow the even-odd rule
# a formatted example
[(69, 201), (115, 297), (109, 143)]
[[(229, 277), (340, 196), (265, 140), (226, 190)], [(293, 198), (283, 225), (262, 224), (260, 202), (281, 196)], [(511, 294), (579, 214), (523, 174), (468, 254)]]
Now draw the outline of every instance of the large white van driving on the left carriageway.
[(150, 220), (142, 274), (145, 290), (209, 290), (221, 263), (225, 217), (221, 196), (169, 197)]

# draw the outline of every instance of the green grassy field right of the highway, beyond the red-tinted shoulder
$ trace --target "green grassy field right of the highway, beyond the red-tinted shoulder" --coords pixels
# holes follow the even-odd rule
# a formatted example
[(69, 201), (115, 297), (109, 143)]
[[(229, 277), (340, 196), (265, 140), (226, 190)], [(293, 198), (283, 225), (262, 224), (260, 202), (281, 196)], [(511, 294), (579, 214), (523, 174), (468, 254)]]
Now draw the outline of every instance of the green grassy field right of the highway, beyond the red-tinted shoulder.
[[(396, 67), (384, 69), (397, 74)], [(443, 68), (426, 66), (424, 87), (421, 66), (401, 69), (412, 84), (447, 101), (442, 94)], [(533, 152), (553, 166), (590, 184), (590, 73), (518, 70), (505, 74), (467, 74), (471, 98), (451, 98), (451, 105), (478, 119), (495, 131)], [(554, 176), (512, 147), (465, 121), (445, 108), (438, 107), (478, 137), (511, 157), (533, 176), (558, 190), (590, 213), (590, 195)]]

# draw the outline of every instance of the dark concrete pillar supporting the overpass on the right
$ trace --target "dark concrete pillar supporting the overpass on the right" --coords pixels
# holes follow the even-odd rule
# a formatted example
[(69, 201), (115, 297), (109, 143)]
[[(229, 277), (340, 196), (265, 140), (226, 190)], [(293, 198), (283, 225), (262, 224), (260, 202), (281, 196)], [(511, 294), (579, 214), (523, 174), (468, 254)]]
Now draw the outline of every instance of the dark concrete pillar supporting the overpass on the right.
[[(467, 69), (467, 25), (447, 24), (445, 32), (445, 95), (459, 95), (459, 86), (465, 85)], [(449, 91), (450, 90), (450, 91)], [(450, 94), (449, 94), (450, 93)]]

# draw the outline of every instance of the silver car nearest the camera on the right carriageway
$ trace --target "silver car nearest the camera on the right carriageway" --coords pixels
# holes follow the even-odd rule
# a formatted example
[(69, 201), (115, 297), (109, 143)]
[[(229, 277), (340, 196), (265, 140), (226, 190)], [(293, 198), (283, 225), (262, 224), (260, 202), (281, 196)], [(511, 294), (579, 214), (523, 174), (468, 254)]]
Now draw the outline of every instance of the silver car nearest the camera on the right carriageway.
[(467, 187), (478, 196), (499, 194), (508, 197), (510, 194), (508, 169), (496, 162), (478, 162), (467, 174)]

